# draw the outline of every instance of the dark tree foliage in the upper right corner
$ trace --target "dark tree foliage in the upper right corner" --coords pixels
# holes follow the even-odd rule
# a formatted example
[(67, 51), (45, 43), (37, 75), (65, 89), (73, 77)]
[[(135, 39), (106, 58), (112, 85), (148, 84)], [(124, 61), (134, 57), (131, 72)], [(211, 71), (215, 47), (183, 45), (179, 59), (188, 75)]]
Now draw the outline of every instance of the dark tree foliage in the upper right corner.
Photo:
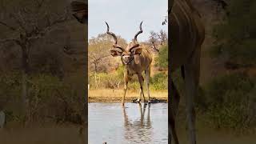
[(212, 52), (227, 55), (226, 61), (240, 67), (255, 66), (256, 58), (256, 2), (234, 0), (228, 6), (229, 15), (214, 28), (218, 45)]

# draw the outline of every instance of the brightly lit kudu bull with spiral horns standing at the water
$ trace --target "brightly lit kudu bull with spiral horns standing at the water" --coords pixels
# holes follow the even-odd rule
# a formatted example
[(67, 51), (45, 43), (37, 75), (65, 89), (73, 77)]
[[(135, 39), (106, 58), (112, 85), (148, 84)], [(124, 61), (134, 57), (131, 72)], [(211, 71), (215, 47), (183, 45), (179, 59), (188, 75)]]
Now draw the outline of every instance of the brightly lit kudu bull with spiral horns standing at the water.
[(125, 65), (124, 71), (124, 94), (122, 96), (122, 106), (124, 106), (124, 101), (126, 97), (126, 90), (128, 86), (128, 82), (134, 74), (138, 76), (138, 82), (140, 84), (140, 95), (138, 96), (137, 102), (141, 101), (141, 96), (143, 96), (144, 102), (146, 102), (145, 95), (143, 92), (143, 82), (144, 78), (142, 77), (142, 72), (145, 71), (146, 75), (146, 89), (148, 94), (148, 102), (150, 102), (150, 65), (152, 62), (152, 55), (149, 50), (146, 49), (145, 46), (140, 45), (137, 41), (138, 34), (142, 34), (142, 22), (139, 26), (140, 30), (134, 36), (133, 42), (130, 42), (126, 49), (122, 46), (118, 46), (118, 38), (117, 36), (110, 32), (110, 27), (106, 22), (107, 26), (107, 34), (110, 34), (114, 38), (113, 48), (110, 50), (110, 54), (113, 57), (121, 56), (122, 64)]

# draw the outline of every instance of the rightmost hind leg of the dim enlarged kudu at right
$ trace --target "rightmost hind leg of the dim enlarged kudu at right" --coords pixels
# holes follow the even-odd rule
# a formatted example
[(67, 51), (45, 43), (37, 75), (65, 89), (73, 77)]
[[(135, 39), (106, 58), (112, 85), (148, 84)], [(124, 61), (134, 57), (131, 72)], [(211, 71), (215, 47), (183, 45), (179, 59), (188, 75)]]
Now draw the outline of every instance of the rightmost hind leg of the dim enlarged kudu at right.
[(184, 66), (186, 87), (186, 120), (189, 143), (196, 144), (194, 98), (198, 90), (200, 73), (200, 48), (194, 51), (192, 57)]

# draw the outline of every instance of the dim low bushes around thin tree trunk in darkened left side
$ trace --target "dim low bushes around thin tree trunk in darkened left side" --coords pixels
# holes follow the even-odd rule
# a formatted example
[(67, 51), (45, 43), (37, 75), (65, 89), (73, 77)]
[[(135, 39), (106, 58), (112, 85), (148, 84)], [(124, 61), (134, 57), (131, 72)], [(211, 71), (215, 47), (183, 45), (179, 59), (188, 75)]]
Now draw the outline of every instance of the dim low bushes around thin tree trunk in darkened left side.
[[(4, 109), (9, 122), (77, 122), (78, 117), (83, 118), (85, 100), (80, 90), (74, 89), (71, 82), (49, 74), (34, 74), (28, 78), (27, 113), (23, 115), (19, 75), (10, 73), (0, 77), (0, 99), (6, 98)], [(8, 97), (2, 97), (4, 93)]]

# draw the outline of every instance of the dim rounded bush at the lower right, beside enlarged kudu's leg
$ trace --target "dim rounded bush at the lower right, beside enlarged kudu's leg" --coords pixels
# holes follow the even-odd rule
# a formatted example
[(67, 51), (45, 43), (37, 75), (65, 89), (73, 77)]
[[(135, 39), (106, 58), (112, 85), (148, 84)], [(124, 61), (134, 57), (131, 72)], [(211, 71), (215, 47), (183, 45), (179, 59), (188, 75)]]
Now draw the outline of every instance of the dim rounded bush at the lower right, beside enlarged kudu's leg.
[(232, 129), (256, 126), (255, 83), (248, 75), (240, 73), (210, 82), (201, 94), (204, 98), (201, 106), (207, 108), (209, 122), (217, 127)]

